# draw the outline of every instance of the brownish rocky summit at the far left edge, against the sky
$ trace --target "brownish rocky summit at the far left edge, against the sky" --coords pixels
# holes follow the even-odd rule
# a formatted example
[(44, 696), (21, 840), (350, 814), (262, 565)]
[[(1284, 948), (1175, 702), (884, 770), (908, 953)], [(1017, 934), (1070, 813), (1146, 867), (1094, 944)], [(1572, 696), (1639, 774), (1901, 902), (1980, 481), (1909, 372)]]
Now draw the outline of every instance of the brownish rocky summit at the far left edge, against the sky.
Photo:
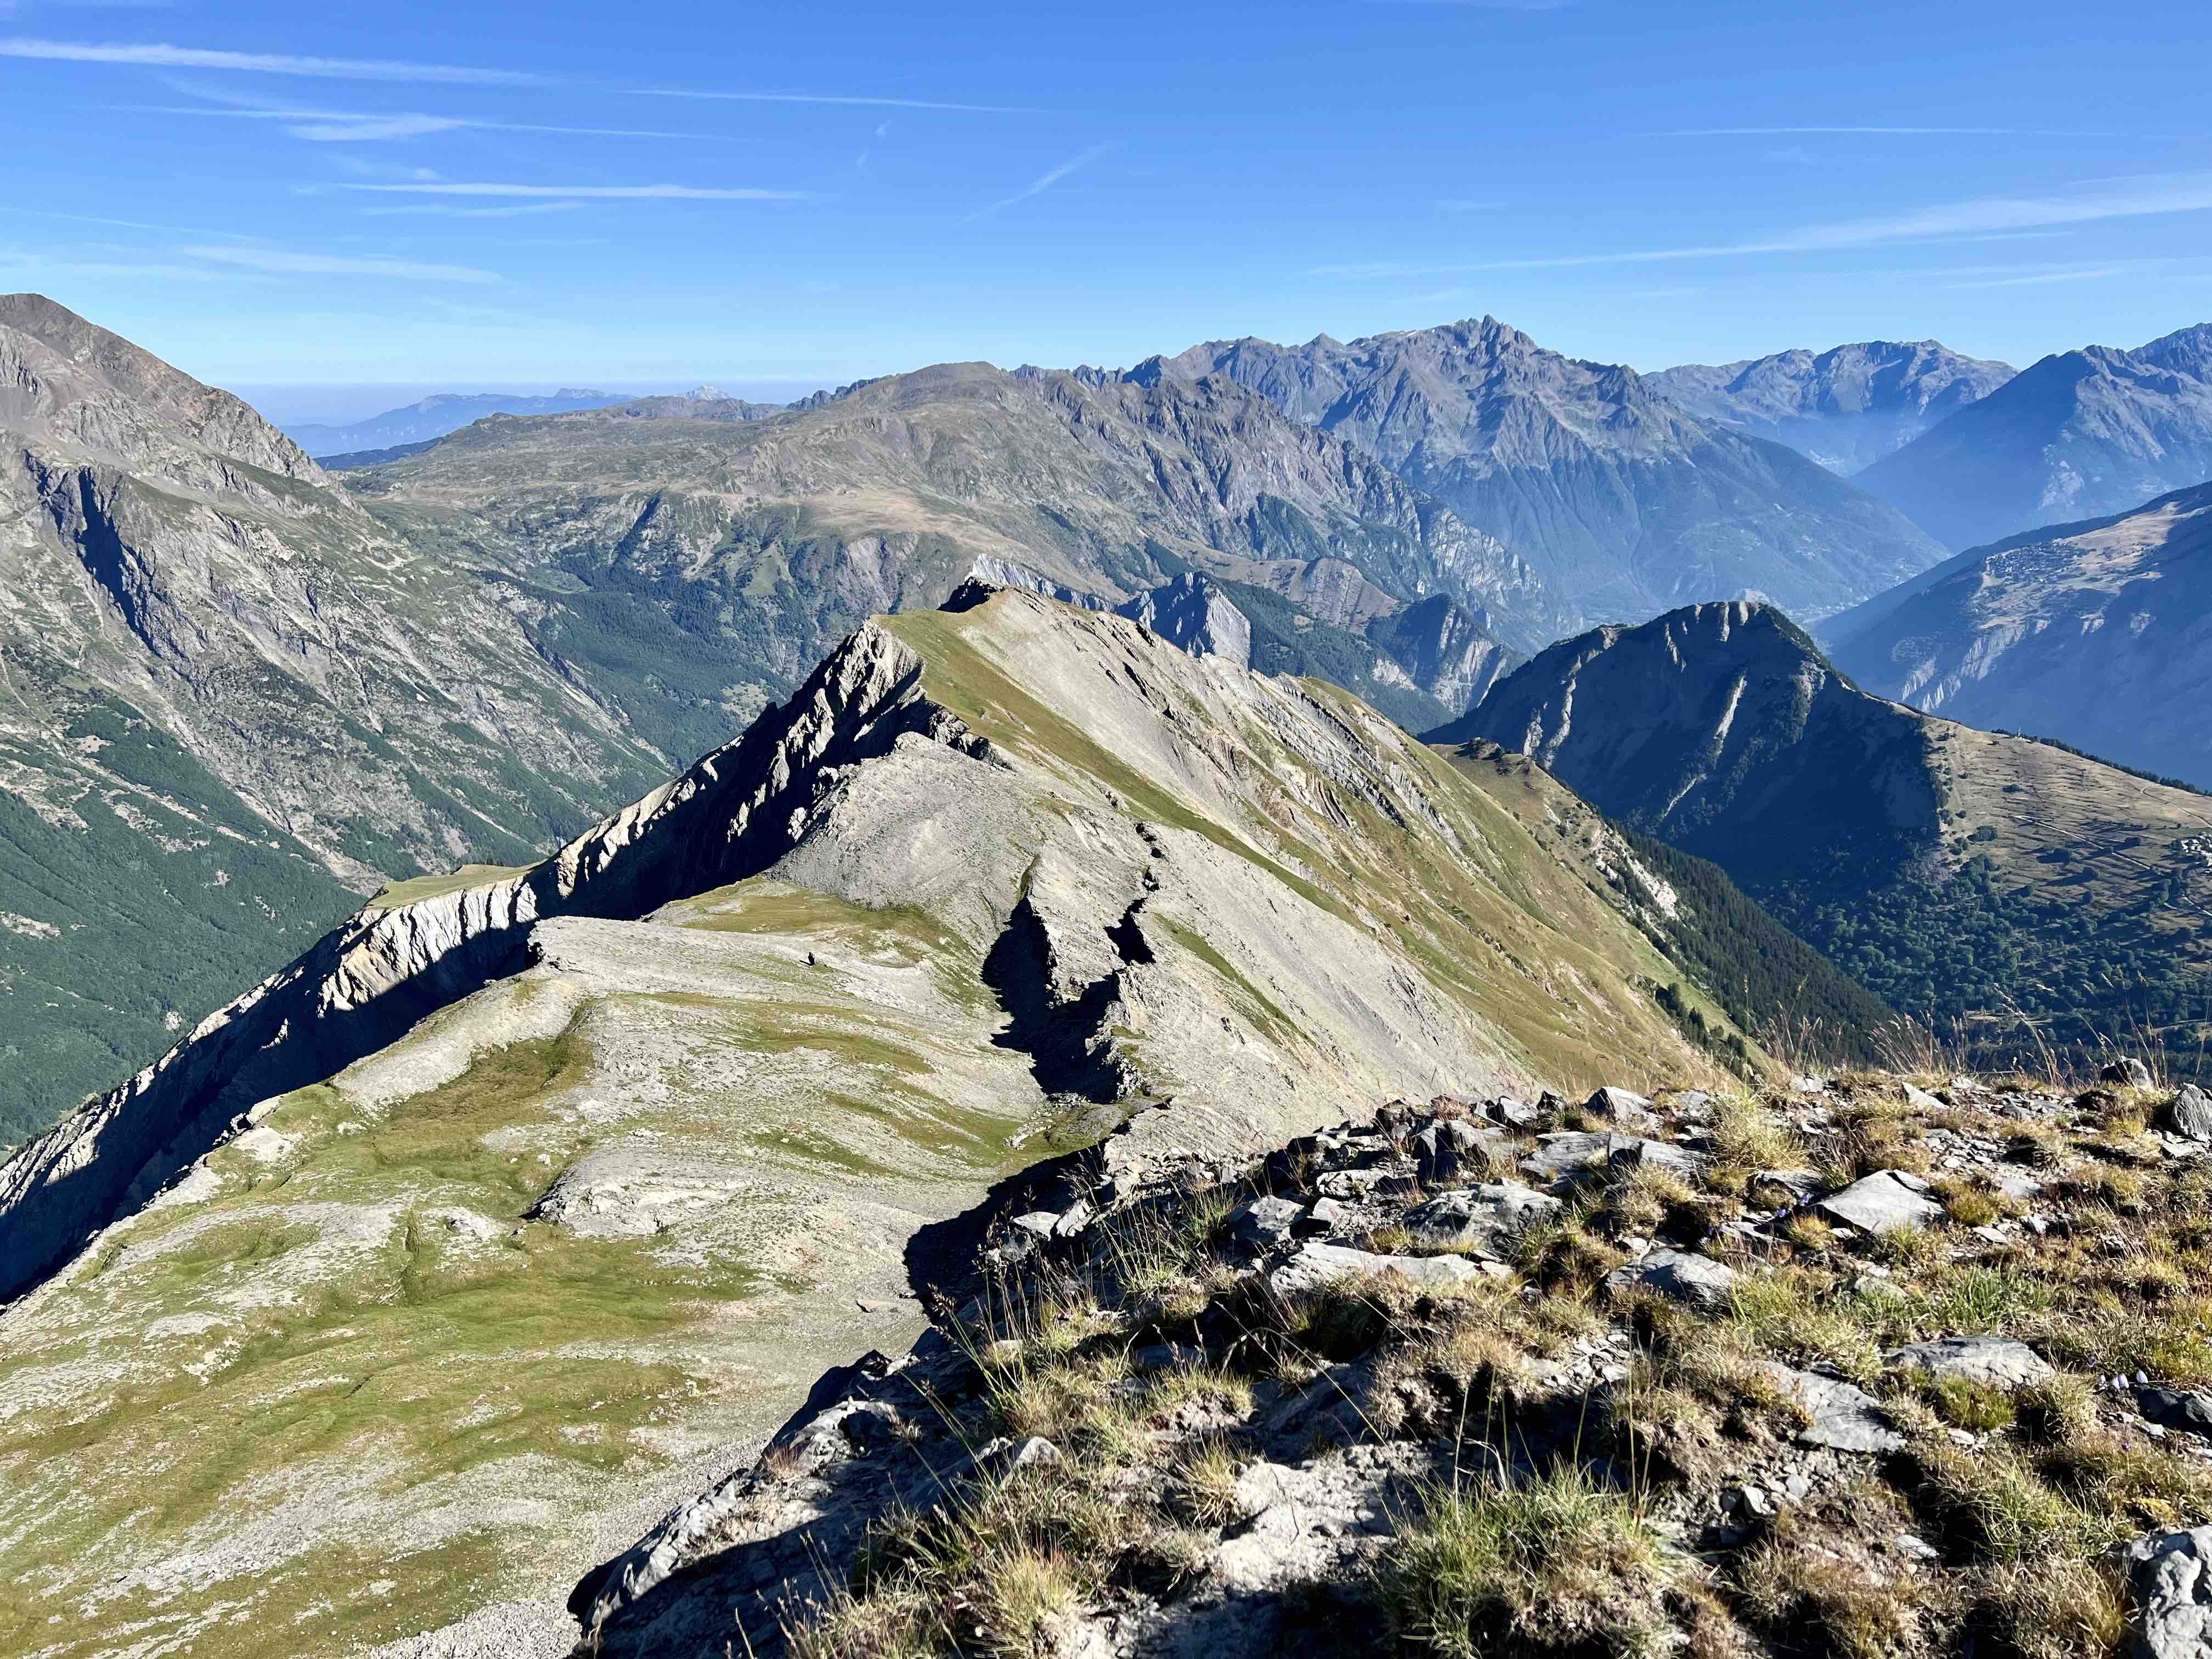
[(299, 445), (239, 398), (44, 294), (0, 294), (0, 427), (195, 491), (252, 489), (210, 465), (221, 460), (325, 482)]

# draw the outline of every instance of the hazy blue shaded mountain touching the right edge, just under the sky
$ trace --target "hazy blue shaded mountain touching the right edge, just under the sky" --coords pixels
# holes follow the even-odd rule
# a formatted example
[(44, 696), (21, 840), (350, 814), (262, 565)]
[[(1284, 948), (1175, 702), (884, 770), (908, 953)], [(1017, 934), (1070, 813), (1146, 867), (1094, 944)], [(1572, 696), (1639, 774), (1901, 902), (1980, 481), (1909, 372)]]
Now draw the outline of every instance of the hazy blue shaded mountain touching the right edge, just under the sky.
[(2022, 369), (1858, 482), (1951, 549), (2126, 513), (2212, 478), (2208, 325)]

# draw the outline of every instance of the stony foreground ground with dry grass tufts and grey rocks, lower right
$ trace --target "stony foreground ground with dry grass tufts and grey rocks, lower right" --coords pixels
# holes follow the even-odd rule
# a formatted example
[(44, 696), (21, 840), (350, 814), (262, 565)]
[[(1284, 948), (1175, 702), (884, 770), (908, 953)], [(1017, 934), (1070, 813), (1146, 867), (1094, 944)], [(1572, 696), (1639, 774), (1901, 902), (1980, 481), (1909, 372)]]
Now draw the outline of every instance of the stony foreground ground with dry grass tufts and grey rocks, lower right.
[(1108, 1144), (580, 1652), (2194, 1659), (2208, 1155), (2124, 1071)]

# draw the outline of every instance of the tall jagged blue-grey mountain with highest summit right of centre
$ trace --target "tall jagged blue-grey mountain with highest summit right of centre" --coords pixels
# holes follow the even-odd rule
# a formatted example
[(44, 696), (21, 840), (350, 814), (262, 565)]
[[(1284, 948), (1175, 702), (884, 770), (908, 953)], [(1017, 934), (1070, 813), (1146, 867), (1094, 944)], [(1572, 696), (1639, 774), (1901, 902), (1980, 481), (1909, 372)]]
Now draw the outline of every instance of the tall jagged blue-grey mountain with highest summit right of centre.
[(1568, 626), (1743, 595), (1818, 617), (1940, 555), (1794, 449), (1699, 420), (1635, 369), (1564, 358), (1495, 319), (1349, 345), (1214, 341), (1130, 374), (1228, 376), (1380, 456), (1528, 560)]

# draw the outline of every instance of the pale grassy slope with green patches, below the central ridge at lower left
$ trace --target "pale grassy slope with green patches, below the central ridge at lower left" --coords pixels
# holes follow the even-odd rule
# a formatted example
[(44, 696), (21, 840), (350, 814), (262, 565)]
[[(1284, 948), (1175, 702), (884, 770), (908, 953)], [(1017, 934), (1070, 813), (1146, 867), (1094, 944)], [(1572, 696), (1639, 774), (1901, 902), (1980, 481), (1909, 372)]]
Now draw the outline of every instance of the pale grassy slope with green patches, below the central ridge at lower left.
[[(142, 1212), (62, 1294), (11, 1310), (0, 1652), (217, 1619), (237, 1659), (330, 1652), (544, 1593), (586, 1562), (518, 1502), (588, 1513), (701, 1420), (710, 1444), (759, 1431), (763, 1383), (774, 1400), (849, 1358), (854, 1336), (814, 1349), (805, 1318), (774, 1323), (814, 1283), (774, 1225), (854, 1181), (929, 1203), (898, 1194), (1011, 1168), (1020, 1057), (987, 1042), (973, 951), (918, 914), (743, 883), (670, 920), (745, 942), (728, 993), (493, 987), (365, 1068), (427, 1064), (409, 1055), (456, 1031), (538, 1035), (387, 1104), (361, 1068), (285, 1097), (265, 1128), (292, 1152), (217, 1152), (217, 1197)], [(902, 1009), (803, 967), (799, 942), (905, 984)], [(947, 984), (967, 1006), (931, 993)], [(1011, 1115), (947, 1093), (940, 1064), (1004, 1071)], [(703, 1245), (522, 1225), (562, 1168), (635, 1133), (721, 1148), (748, 1170), (743, 1214)]]

